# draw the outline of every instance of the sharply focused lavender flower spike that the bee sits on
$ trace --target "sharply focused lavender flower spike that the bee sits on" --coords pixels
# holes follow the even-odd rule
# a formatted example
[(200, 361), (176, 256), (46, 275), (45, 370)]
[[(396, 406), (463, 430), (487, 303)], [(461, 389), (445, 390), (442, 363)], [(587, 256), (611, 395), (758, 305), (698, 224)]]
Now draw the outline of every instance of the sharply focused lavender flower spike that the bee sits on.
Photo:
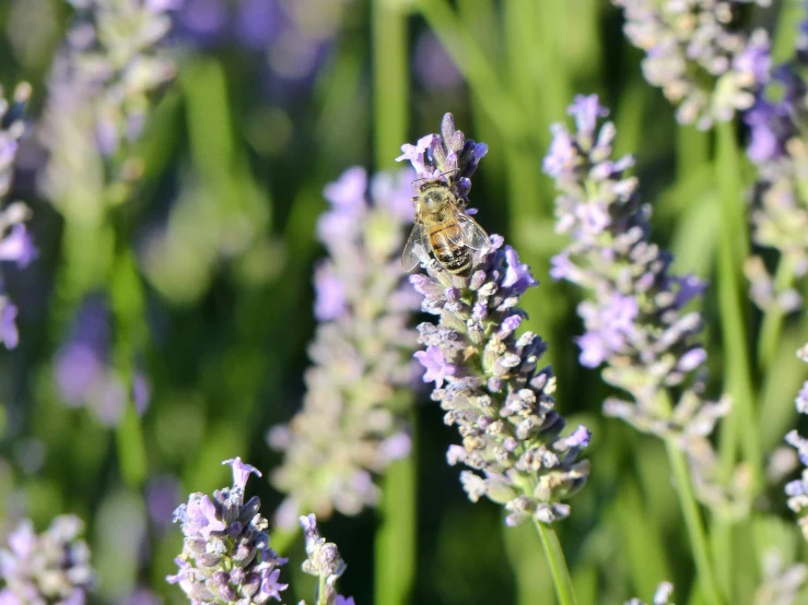
[[(468, 192), (485, 147), (466, 141), (446, 115), (442, 135), (430, 135), (429, 146), (402, 150), (399, 159), (419, 173), (445, 174), (450, 187)], [(516, 305), (537, 282), (502, 237), (491, 241), (459, 285), (434, 259), (425, 264), (429, 275), (410, 277), (423, 310), (438, 318), (418, 327), (426, 351), (415, 356), (426, 368), (424, 381), (435, 382), (432, 399), (446, 412), (444, 420), (462, 436), (447, 460), (473, 470), (460, 474), (469, 498), (504, 505), (508, 525), (550, 523), (570, 514), (562, 500), (586, 481), (589, 462), (578, 455), (589, 431), (582, 426), (561, 436), (566, 422), (553, 410), (555, 378), (538, 366), (547, 345), (532, 332), (517, 335), (526, 316)]]

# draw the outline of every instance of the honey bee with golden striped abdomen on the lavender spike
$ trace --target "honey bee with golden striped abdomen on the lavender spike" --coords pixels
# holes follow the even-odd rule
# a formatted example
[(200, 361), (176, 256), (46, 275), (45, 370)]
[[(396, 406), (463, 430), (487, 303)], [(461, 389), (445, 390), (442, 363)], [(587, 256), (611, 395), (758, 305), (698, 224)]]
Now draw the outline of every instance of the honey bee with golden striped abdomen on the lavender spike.
[(491, 247), (485, 230), (466, 214), (449, 185), (441, 178), (425, 179), (418, 188), (415, 225), (401, 252), (401, 266), (412, 269), (435, 254), (441, 265), (459, 277), (471, 275), (475, 250)]

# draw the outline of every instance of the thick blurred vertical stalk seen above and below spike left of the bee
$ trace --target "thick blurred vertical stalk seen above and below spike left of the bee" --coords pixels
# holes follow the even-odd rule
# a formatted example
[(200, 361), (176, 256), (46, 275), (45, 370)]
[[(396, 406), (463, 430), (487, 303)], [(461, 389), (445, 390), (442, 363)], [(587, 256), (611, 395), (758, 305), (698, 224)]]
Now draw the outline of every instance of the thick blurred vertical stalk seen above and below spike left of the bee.
[[(395, 166), (401, 144), (408, 141), (407, 15), (399, 2), (373, 0), (374, 142), (376, 167)], [(414, 411), (410, 426), (414, 428)], [(412, 454), (393, 463), (382, 482), (374, 557), (376, 603), (406, 605), (415, 577), (418, 507), (415, 436)]]

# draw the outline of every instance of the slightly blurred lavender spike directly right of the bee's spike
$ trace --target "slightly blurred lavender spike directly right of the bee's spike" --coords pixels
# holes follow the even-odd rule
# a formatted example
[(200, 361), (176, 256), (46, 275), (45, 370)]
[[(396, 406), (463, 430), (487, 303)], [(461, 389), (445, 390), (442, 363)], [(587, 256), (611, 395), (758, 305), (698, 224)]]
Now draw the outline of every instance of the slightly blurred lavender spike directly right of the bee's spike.
[[(714, 470), (706, 437), (729, 405), (702, 396), (699, 370), (706, 352), (695, 337), (703, 319), (686, 306), (704, 284), (672, 275), (671, 256), (651, 241), (651, 209), (640, 202), (637, 179), (625, 176), (633, 158), (611, 158), (617, 132), (611, 122), (599, 124), (607, 110), (597, 96), (576, 97), (570, 114), (576, 132), (552, 127), (544, 171), (559, 190), (555, 229), (571, 236), (570, 246), (552, 259), (550, 274), (589, 297), (578, 306), (586, 329), (577, 339), (581, 364), (606, 364), (604, 380), (631, 395), (633, 401), (608, 399), (607, 415), (641, 431), (676, 437), (691, 461), (701, 463), (699, 481)], [(706, 482), (701, 487), (706, 489)]]

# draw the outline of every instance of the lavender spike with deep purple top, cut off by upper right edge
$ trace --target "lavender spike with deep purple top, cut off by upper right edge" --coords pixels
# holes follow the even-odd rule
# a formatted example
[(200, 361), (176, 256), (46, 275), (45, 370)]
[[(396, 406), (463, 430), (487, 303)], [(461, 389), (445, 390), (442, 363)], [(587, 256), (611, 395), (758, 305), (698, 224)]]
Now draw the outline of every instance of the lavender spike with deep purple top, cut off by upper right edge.
[(801, 308), (795, 286), (808, 272), (808, 85), (800, 71), (799, 55), (774, 69), (743, 116), (747, 154), (758, 167), (752, 240), (780, 254), (776, 278), (761, 257), (750, 258), (745, 269), (756, 305), (781, 312)]

